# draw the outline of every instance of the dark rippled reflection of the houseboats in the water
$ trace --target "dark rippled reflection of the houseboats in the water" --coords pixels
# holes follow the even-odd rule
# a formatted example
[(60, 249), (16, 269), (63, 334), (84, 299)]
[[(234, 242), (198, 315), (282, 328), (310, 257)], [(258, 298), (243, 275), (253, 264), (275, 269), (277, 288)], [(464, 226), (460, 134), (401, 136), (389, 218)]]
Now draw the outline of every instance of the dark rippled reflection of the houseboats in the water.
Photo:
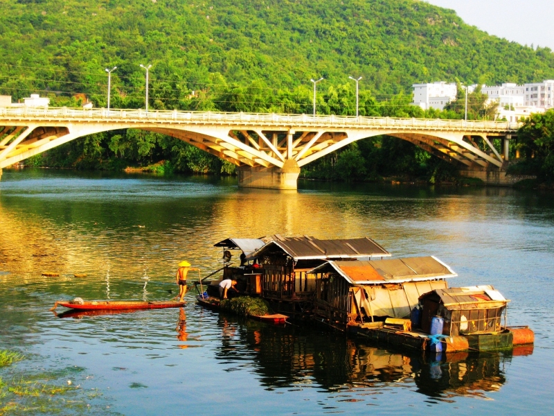
[[(414, 384), (415, 391), (441, 401), (488, 398), (488, 392), (499, 391), (506, 383), (504, 369), (512, 356), (533, 354), (533, 346), (525, 346), (510, 352), (423, 356), (306, 327), (270, 327), (253, 321), (239, 325), (224, 315), (220, 327), (222, 348), (217, 358), (231, 365), (251, 358), (256, 363), (253, 371), (267, 390), (323, 388), (348, 392), (351, 401), (391, 385), (413, 390)], [(227, 371), (232, 370), (238, 367)]]

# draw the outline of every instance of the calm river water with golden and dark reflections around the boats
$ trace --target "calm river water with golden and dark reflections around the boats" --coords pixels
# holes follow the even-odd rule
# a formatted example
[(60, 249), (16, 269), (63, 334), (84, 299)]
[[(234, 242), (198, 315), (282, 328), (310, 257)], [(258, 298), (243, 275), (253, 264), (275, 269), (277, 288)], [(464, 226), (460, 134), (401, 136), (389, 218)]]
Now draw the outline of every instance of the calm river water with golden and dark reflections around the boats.
[[(71, 379), (100, 414), (552, 414), (552, 194), (299, 187), (5, 170), (0, 349), (26, 360), (0, 376), (16, 368)], [(451, 286), (492, 284), (512, 300), (509, 322), (529, 324), (535, 347), (433, 361), (337, 333), (218, 315), (197, 306), (192, 292), (183, 309), (79, 319), (48, 311), (77, 296), (169, 299), (182, 259), (206, 275), (220, 265), (213, 243), (276, 233), (369, 236), (393, 256), (433, 254), (458, 272)], [(62, 414), (79, 413), (71, 409)]]

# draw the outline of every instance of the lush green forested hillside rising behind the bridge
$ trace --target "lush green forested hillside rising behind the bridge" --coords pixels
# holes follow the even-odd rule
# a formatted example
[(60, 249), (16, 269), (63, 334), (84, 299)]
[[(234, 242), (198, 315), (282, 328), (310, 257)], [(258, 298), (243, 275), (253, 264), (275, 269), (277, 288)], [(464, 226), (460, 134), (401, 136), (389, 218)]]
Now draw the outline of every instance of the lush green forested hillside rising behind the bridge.
[[(424, 1), (0, 0), (0, 5), (0, 94), (17, 99), (39, 93), (51, 96), (53, 105), (90, 99), (105, 106), (105, 68), (117, 66), (111, 107), (142, 107), (145, 73), (139, 64), (152, 64), (151, 108), (245, 112), (310, 112), (310, 78), (323, 76), (319, 112), (355, 114), (355, 85), (348, 76), (363, 76), (362, 115), (456, 117), (461, 109), (423, 114), (407, 106), (411, 84), (554, 78), (550, 49), (490, 36), (464, 24), (454, 11)], [(118, 159), (113, 166), (124, 164), (122, 159), (175, 161), (172, 149), (182, 147), (161, 144), (166, 139), (155, 135), (147, 135), (141, 147), (132, 135), (89, 138), (94, 155), (87, 155), (86, 140), (80, 140), (46, 157), (50, 164), (89, 160), (83, 166), (106, 167), (108, 159)], [(39, 159), (35, 163), (46, 163)], [(179, 166), (195, 170), (186, 156), (180, 160)]]

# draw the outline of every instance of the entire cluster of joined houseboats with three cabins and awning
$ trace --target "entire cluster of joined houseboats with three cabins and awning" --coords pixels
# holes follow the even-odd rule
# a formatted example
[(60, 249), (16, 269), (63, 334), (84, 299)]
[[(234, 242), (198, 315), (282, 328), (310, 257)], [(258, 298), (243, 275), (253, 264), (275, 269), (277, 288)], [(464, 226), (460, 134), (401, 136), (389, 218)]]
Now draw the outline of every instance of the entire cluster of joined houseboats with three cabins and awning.
[[(534, 340), (527, 327), (506, 327), (509, 301), (492, 286), (449, 288), (457, 275), (433, 256), (387, 259), (391, 254), (368, 238), (274, 235), (215, 246), (224, 250), (223, 272), (199, 294), (201, 304), (219, 302), (220, 281), (233, 279), (235, 295), (262, 297), (287, 318), (390, 345), (453, 352)], [(240, 251), (239, 264), (231, 250)]]

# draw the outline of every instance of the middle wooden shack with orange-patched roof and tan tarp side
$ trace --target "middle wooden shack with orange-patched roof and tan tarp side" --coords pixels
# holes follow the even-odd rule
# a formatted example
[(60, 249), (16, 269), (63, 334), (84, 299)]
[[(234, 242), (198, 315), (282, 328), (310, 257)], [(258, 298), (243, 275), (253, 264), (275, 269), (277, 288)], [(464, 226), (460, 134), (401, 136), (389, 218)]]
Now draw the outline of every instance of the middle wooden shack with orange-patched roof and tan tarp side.
[(456, 277), (436, 257), (328, 261), (315, 277), (314, 319), (345, 330), (385, 318), (409, 318), (421, 295), (447, 288)]

